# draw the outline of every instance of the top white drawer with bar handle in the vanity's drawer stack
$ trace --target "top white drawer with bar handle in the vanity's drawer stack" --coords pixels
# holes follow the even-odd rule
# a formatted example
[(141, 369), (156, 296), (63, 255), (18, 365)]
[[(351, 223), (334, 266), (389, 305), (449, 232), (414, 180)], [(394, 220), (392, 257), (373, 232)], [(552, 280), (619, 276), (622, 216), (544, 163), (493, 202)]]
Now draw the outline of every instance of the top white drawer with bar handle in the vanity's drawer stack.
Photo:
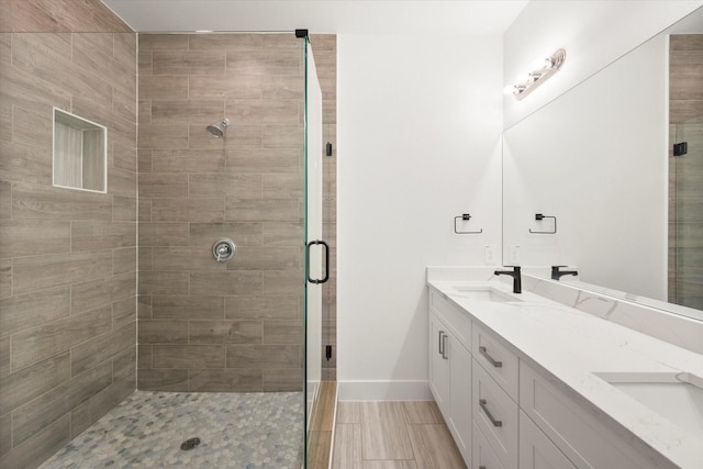
[(518, 395), (517, 356), (510, 351), (502, 342), (478, 324), (473, 324), (471, 355), (493, 377), (513, 401)]

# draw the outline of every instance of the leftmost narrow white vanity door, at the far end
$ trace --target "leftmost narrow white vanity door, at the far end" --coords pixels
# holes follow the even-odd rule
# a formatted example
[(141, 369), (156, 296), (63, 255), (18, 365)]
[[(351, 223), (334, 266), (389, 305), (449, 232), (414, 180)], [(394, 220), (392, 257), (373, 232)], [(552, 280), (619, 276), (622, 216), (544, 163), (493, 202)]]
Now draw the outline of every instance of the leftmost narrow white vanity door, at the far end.
[(449, 415), (449, 342), (447, 327), (435, 314), (429, 314), (429, 390), (439, 410)]

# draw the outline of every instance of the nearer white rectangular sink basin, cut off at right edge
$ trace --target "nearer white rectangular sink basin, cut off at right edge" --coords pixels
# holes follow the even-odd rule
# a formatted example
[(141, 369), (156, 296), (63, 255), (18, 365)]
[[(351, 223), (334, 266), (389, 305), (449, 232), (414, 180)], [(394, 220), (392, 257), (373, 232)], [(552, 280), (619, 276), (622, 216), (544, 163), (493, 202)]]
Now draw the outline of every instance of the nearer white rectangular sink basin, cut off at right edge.
[(594, 375), (674, 425), (703, 438), (703, 378), (687, 372)]

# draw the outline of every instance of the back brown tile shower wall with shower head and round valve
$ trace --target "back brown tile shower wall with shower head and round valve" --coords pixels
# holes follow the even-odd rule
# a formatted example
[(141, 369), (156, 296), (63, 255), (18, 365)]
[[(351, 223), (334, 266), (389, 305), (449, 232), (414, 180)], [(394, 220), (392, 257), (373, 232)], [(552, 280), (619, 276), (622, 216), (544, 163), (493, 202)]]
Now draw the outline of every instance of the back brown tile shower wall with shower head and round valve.
[(302, 51), (293, 34), (140, 35), (140, 389), (301, 390)]

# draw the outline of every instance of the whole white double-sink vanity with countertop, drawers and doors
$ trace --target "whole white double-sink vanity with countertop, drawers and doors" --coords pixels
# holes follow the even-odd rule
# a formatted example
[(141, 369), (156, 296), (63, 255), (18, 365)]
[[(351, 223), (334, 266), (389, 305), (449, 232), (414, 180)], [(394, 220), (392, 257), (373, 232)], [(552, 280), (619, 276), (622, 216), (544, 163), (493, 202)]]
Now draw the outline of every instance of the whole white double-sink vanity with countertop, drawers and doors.
[(429, 388), (469, 468), (703, 468), (703, 355), (432, 269)]

